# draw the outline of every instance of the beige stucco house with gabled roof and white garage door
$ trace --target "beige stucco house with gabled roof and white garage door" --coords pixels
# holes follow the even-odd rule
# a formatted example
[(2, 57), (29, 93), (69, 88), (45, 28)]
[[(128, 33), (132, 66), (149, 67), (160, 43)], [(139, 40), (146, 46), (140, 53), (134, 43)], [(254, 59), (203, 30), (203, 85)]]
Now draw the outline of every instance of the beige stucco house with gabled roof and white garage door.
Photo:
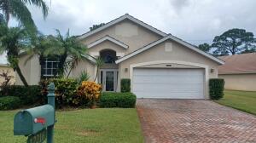
[[(224, 64), (129, 14), (78, 39), (87, 45), (91, 56), (100, 56), (105, 61), (97, 77), (104, 91), (120, 91), (120, 79), (130, 78), (131, 92), (138, 98), (208, 99), (208, 80), (218, 77), (218, 66)], [(20, 64), (26, 56), (20, 58)], [(37, 84), (41, 75), (52, 75), (55, 62), (45, 60), (41, 68), (35, 55), (23, 65), (22, 72), (29, 84)], [(81, 61), (71, 77), (78, 77), (84, 70), (93, 79), (95, 61)]]

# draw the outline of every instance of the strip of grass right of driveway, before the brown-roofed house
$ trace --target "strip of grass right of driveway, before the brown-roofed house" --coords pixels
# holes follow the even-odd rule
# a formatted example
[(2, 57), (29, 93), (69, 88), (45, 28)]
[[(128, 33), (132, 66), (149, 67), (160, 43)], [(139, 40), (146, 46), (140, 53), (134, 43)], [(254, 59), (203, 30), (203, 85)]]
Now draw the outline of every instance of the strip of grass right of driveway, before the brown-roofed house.
[(224, 98), (215, 101), (224, 106), (230, 106), (256, 115), (256, 91), (225, 90)]

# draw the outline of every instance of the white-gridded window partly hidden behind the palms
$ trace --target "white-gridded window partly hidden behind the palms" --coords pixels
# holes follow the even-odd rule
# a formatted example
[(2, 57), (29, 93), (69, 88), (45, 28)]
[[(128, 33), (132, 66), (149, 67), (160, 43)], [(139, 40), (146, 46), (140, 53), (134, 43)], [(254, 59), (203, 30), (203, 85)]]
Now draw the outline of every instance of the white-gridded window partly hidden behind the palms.
[(57, 75), (59, 58), (44, 58), (41, 65), (42, 77), (54, 77)]

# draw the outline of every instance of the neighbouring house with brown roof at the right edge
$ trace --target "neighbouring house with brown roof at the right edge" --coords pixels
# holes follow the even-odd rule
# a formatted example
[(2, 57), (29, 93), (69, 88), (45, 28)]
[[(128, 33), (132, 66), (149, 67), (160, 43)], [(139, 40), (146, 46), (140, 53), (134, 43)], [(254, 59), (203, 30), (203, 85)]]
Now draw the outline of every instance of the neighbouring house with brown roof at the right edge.
[(256, 53), (219, 57), (218, 77), (224, 78), (225, 89), (256, 91)]

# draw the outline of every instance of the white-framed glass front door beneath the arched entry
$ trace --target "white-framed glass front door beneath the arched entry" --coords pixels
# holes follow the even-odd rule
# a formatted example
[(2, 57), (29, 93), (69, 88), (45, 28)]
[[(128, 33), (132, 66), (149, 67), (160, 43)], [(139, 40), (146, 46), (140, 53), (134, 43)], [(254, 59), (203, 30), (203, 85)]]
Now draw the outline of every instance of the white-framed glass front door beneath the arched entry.
[(100, 83), (103, 86), (103, 91), (116, 91), (118, 81), (118, 70), (102, 69), (100, 79)]

